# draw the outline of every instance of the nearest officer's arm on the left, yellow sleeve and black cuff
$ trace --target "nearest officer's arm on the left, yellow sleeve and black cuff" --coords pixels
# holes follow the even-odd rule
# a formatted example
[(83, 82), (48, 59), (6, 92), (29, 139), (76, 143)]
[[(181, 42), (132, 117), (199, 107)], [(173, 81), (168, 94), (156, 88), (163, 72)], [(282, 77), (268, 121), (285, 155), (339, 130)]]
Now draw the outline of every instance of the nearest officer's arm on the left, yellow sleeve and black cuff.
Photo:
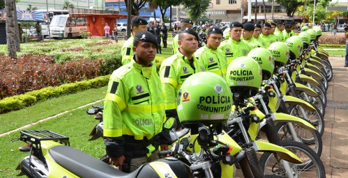
[(119, 79), (110, 79), (104, 102), (103, 126), (104, 142), (107, 155), (119, 157), (123, 155), (125, 140), (122, 133), (121, 111), (126, 108), (126, 95), (123, 83)]

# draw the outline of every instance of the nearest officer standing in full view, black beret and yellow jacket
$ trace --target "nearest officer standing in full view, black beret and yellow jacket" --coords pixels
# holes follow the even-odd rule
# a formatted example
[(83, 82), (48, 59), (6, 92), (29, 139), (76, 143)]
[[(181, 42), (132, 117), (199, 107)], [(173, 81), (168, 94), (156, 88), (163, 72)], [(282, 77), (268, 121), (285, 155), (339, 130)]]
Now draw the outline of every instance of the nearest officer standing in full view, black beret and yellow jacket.
[(135, 34), (135, 56), (109, 79), (103, 111), (104, 141), (109, 163), (123, 172), (157, 159), (156, 149), (167, 149), (170, 143), (168, 130), (162, 129), (165, 106), (158, 87), (160, 78), (151, 67), (157, 45), (150, 32)]

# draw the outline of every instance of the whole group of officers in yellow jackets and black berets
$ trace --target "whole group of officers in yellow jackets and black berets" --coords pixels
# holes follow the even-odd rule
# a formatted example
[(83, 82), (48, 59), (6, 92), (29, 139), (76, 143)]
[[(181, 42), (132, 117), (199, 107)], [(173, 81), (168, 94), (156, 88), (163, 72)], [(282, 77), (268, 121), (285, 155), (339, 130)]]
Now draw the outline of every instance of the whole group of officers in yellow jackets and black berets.
[(142, 17), (133, 17), (131, 26), (132, 35), (121, 49), (123, 66), (109, 80), (103, 115), (109, 162), (124, 172), (158, 158), (158, 147), (168, 149), (169, 131), (162, 128), (167, 118), (175, 118), (176, 129), (182, 129), (178, 95), (189, 101), (190, 93), (180, 90), (189, 76), (209, 71), (225, 79), (232, 60), (247, 56), (252, 49), (285, 42), (297, 28), (296, 22), (232, 22), (225, 31), (209, 26), (207, 43), (198, 49), (193, 22), (183, 19), (173, 39), (174, 54), (162, 61), (157, 72), (154, 59), (161, 53), (160, 38), (167, 47), (167, 26), (157, 21), (148, 24)]

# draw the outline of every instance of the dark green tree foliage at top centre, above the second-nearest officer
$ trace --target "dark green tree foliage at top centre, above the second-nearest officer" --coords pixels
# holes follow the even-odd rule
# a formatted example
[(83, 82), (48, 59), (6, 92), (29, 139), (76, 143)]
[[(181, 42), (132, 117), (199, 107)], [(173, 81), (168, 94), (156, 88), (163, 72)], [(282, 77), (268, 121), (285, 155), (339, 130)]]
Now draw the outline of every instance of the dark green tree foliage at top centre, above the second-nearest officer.
[(182, 2), (183, 8), (188, 9), (188, 17), (192, 20), (199, 19), (206, 13), (210, 0), (185, 0)]

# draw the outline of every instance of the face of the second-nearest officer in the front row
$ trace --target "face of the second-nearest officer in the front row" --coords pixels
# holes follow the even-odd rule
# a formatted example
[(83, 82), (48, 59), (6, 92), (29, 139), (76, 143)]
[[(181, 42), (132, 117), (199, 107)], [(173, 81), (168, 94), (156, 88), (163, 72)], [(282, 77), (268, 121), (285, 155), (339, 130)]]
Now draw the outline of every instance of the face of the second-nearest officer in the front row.
[(198, 39), (190, 33), (183, 33), (181, 40), (178, 41), (181, 50), (188, 54), (194, 54), (198, 48)]

